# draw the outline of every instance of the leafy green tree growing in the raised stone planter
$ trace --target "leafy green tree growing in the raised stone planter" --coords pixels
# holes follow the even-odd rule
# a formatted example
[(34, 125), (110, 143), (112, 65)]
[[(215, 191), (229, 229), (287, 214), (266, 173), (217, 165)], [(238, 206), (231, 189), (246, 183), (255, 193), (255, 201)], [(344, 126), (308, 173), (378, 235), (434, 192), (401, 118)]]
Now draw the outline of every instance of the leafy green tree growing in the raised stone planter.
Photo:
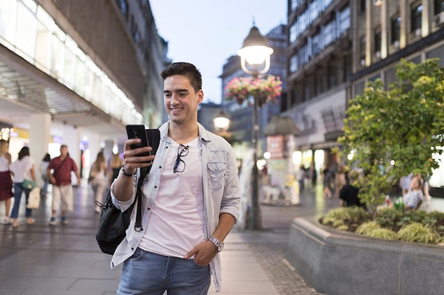
[(438, 168), (444, 129), (444, 72), (438, 59), (396, 66), (397, 81), (384, 90), (380, 79), (350, 100), (345, 112), (342, 154), (360, 170), (354, 183), (359, 197), (376, 214), (392, 185), (413, 172), (430, 175)]

